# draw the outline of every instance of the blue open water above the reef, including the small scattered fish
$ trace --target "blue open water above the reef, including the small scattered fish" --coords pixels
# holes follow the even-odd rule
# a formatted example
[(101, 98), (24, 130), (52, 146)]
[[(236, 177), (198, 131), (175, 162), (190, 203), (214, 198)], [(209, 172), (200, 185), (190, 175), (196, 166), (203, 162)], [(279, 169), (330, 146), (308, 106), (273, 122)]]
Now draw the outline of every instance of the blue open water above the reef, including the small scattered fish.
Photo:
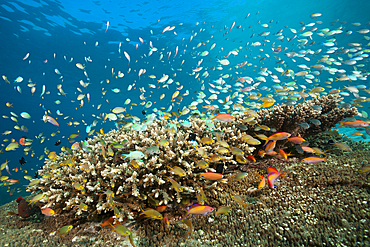
[[(177, 112), (178, 119), (186, 120), (192, 113), (180, 113), (199, 100), (203, 91), (206, 99), (212, 94), (218, 96), (208, 100), (218, 105), (219, 112), (232, 114), (232, 104), (226, 104), (230, 100), (227, 97), (240, 92), (242, 87), (235, 83), (241, 76), (254, 79), (243, 86), (254, 86), (255, 94), (251, 92), (249, 96), (262, 98), (271, 94), (276, 102), (291, 105), (303, 99), (295, 101), (289, 96), (277, 95), (274, 86), (295, 81), (294, 85), (285, 86), (293, 85), (295, 90), (306, 89), (306, 92), (323, 87), (321, 95), (339, 89), (343, 92), (341, 104), (356, 106), (360, 112), (356, 119), (367, 121), (368, 57), (358, 61), (357, 64), (362, 64), (358, 68), (344, 63), (336, 66), (348, 74), (358, 69), (364, 75), (364, 79), (358, 80), (335, 81), (338, 74), (328, 76), (321, 72), (312, 80), (282, 79), (282, 73), (274, 68), (297, 73), (301, 70), (298, 64), (314, 66), (330, 47), (341, 50), (349, 43), (360, 43), (363, 49), (370, 49), (370, 33), (366, 31), (370, 28), (369, 10), (370, 2), (366, 0), (2, 2), (0, 163), (7, 163), (8, 167), (3, 166), (1, 170), (4, 177), (0, 182), (0, 204), (28, 196), (25, 186), (31, 178), (25, 176), (37, 178), (37, 171), (44, 165), (45, 158), (51, 158), (52, 152), (59, 154), (63, 147), (71, 148), (74, 142), (107, 133), (118, 124), (139, 122), (127, 118), (117, 123), (114, 117), (107, 115), (113, 108), (125, 107), (124, 114), (141, 120), (148, 114), (165, 112)], [(312, 16), (315, 13), (320, 15), (316, 18)], [(317, 33), (326, 28), (343, 30), (343, 33), (329, 37), (325, 35), (327, 31), (323, 31), (323, 35), (300, 36), (309, 29), (299, 31), (305, 24), (317, 21), (320, 22)], [(166, 27), (172, 28), (165, 30)], [(281, 29), (284, 31), (279, 31)], [(277, 34), (281, 32), (284, 39), (278, 39)], [(295, 34), (298, 36), (294, 37)], [(298, 41), (300, 38), (308, 41), (302, 44)], [(328, 44), (329, 39), (335, 39), (333, 45)], [(307, 44), (311, 42), (314, 43)], [(212, 44), (214, 48), (210, 48)], [(279, 53), (276, 47), (286, 49)], [(321, 53), (297, 62), (284, 55), (307, 49), (321, 49)], [(236, 54), (228, 54), (235, 50)], [(219, 60), (229, 55), (230, 66), (218, 69)], [(279, 63), (282, 60), (284, 63)], [(235, 66), (241, 68), (245, 61), (250, 65), (245, 65), (242, 73), (235, 73)], [(196, 76), (194, 70), (200, 66), (203, 70)], [(207, 75), (203, 74), (206, 68)], [(262, 75), (265, 80), (258, 79), (259, 72), (266, 69), (278, 74), (281, 81), (273, 81), (268, 75)], [(170, 75), (173, 82), (158, 82), (163, 75)], [(215, 88), (210, 85), (215, 84), (220, 75), (226, 81), (222, 86), (230, 85), (227, 93), (214, 93)], [(329, 77), (334, 80), (327, 83)], [(360, 92), (346, 90), (349, 86)], [(180, 93), (175, 95), (177, 91)], [(260, 98), (235, 98), (234, 102), (244, 102), (246, 108), (257, 110), (261, 108)], [(356, 101), (359, 98), (362, 101)], [(228, 107), (224, 108), (225, 104)], [(204, 109), (199, 107), (199, 110)], [(57, 123), (45, 116), (51, 116)], [(365, 131), (358, 134), (359, 131), (352, 128), (338, 130), (352, 140), (369, 139)], [(28, 145), (19, 144), (6, 150), (10, 143), (19, 142), (21, 138), (25, 138), (23, 142)], [(8, 178), (18, 181), (9, 183)]]

